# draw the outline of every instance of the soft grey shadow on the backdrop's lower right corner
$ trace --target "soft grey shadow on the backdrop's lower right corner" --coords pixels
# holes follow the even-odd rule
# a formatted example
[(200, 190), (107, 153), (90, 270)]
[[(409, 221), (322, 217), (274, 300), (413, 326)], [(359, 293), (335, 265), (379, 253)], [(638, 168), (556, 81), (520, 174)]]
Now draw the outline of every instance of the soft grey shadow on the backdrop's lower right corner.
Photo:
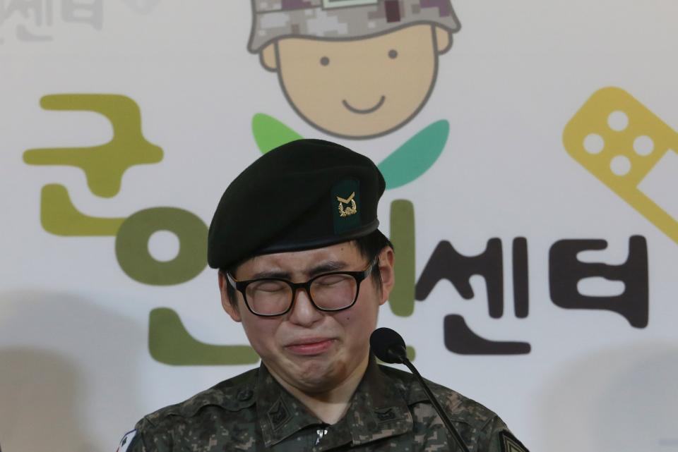
[[(551, 452), (678, 451), (678, 346), (653, 341), (568, 362), (536, 413)], [(548, 439), (562, 437), (560, 444)]]

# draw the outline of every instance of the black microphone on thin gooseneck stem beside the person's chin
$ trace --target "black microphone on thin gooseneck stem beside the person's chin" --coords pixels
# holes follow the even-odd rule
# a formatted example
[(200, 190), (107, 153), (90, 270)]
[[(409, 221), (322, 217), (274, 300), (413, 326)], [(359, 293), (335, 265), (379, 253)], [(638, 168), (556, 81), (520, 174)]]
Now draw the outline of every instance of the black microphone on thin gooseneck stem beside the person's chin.
[(417, 368), (408, 360), (407, 350), (405, 348), (405, 341), (403, 341), (403, 336), (396, 333), (390, 328), (377, 328), (369, 336), (369, 346), (372, 350), (372, 353), (383, 362), (388, 362), (389, 364), (404, 364), (410, 369), (410, 372), (414, 374), (417, 380), (422, 384), (424, 392), (428, 396), (429, 400), (433, 404), (436, 413), (438, 413), (440, 419), (447, 427), (448, 432), (452, 434), (452, 437), (457, 441), (459, 447), (464, 452), (470, 452), (466, 444), (464, 444), (461, 435), (457, 432), (457, 429), (454, 428), (451, 420), (447, 417), (446, 413), (441, 407), (440, 403), (436, 400), (436, 397), (433, 395), (431, 389), (424, 381), (424, 378), (421, 376)]

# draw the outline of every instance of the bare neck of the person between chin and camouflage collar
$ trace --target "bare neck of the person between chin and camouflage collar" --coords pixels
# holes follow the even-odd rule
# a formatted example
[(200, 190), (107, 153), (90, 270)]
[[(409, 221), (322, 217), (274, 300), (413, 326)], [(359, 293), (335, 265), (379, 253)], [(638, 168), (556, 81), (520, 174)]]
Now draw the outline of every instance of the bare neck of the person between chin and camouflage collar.
[(319, 392), (302, 391), (278, 377), (278, 375), (276, 375), (275, 372), (272, 372), (270, 368), (268, 369), (268, 372), (270, 372), (270, 374), (273, 375), (273, 378), (275, 378), (283, 388), (287, 389), (292, 396), (295, 396), (295, 398), (306, 405), (314, 415), (318, 416), (321, 421), (326, 424), (335, 424), (346, 414), (351, 397), (353, 396), (353, 393), (355, 393), (355, 389), (357, 389), (358, 384), (367, 369), (368, 363), (369, 354), (365, 355), (365, 358), (355, 368), (352, 374), (338, 384), (338, 386)]

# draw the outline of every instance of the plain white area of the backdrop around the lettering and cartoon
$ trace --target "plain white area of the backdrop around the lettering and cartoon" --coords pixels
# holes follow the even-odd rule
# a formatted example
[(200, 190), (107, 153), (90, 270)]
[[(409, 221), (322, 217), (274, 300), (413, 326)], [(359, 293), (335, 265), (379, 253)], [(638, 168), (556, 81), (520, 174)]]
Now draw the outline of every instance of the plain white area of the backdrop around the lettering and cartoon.
[[(430, 169), (386, 191), (382, 231), (391, 233), (391, 203), (410, 201), (417, 279), (441, 241), (472, 256), (499, 238), (504, 312), (489, 316), (484, 280), (476, 275), (470, 300), (442, 280), (410, 315), (383, 307), (380, 326), (403, 333), (424, 376), (495, 410), (532, 451), (678, 451), (678, 235), (672, 236), (671, 221), (648, 216), (647, 203), (629, 204), (634, 190), (615, 193), (587, 171), (563, 138), (595, 92), (619, 87), (630, 94), (656, 115), (642, 119), (634, 106), (632, 125), (642, 119), (655, 152), (665, 151), (662, 143), (673, 149), (646, 179), (645, 191), (678, 220), (676, 2), (456, 0), (462, 28), (439, 57), (428, 102), (403, 127), (361, 140), (322, 133), (295, 113), (275, 73), (247, 51), (247, 1), (88, 5), (0, 1), (3, 451), (113, 451), (144, 414), (252, 367), (191, 364), (190, 350), (166, 362), (151, 355), (149, 341), (164, 340), (150, 326), (157, 308), (175, 312), (197, 341), (246, 344), (221, 310), (215, 271), (170, 285), (136, 281), (119, 264), (114, 234), (49, 232), (44, 223), (51, 220), (41, 220), (40, 212), (43, 187), (59, 184), (88, 216), (124, 219), (161, 206), (208, 224), (227, 183), (261, 154), (252, 128), (256, 114), (377, 162), (429, 124), (448, 121), (448, 138)], [(113, 136), (99, 114), (44, 109), (40, 99), (52, 94), (132, 99), (143, 136), (162, 148), (162, 159), (132, 166), (119, 192), (107, 197), (93, 193), (82, 169), (30, 164), (28, 149), (94, 146)], [(74, 220), (61, 204), (52, 207), (54, 221), (68, 229)], [(648, 312), (646, 324), (590, 309), (591, 300), (577, 309), (554, 303), (549, 287), (560, 288), (549, 285), (554, 244), (605, 240), (607, 249), (580, 258), (582, 265), (599, 262), (609, 270), (629, 257), (631, 236), (645, 239), (647, 265), (638, 260), (624, 276), (626, 285), (594, 278), (578, 288), (619, 295), (642, 286), (647, 274), (648, 291), (641, 287), (633, 300), (615, 302), (634, 305), (641, 317)], [(514, 311), (511, 243), (518, 237), (528, 246), (527, 317)], [(157, 233), (148, 247), (156, 259), (171, 260), (179, 240)], [(496, 269), (499, 261), (493, 262)], [(529, 343), (530, 351), (448, 350), (443, 319), (450, 314), (463, 316), (478, 336)]]

